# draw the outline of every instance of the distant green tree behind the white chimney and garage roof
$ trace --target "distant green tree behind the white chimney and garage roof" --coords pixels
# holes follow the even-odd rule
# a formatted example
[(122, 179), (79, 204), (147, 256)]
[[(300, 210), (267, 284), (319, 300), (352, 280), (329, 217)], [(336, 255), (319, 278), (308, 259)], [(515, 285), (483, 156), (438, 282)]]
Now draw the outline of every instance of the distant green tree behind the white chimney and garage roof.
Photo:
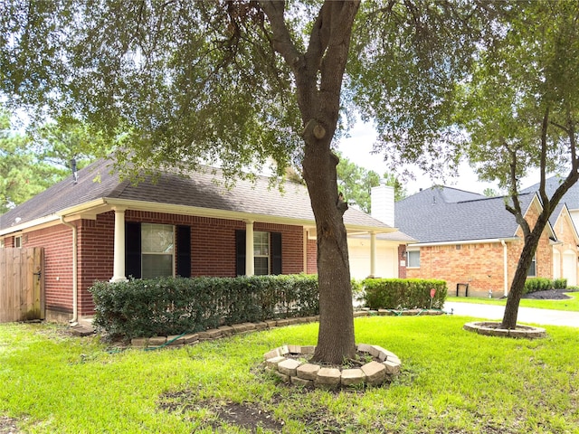
[(374, 170), (367, 170), (356, 165), (345, 156), (337, 153), (340, 162), (337, 164), (337, 188), (344, 194), (348, 205), (357, 206), (360, 210), (371, 212), (370, 193), (372, 187), (380, 185), (382, 179), (386, 185), (394, 187), (394, 201), (401, 201), (406, 197), (403, 185), (392, 174), (381, 177)]

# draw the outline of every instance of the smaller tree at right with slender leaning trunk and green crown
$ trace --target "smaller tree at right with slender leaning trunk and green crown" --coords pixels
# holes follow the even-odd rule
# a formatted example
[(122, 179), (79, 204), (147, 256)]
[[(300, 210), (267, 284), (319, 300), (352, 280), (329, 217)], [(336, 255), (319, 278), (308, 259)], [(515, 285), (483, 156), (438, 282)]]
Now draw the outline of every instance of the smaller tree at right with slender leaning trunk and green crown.
[[(579, 120), (579, 5), (576, 2), (517, 2), (495, 38), (479, 53), (464, 111), (470, 132), (467, 154), (479, 177), (508, 189), (508, 212), (524, 234), (524, 247), (502, 320), (517, 325), (527, 270), (551, 213), (579, 179), (576, 125)], [(463, 119), (464, 120), (464, 119)], [(519, 180), (540, 171), (543, 211), (525, 219)], [(546, 175), (564, 171), (549, 197)]]

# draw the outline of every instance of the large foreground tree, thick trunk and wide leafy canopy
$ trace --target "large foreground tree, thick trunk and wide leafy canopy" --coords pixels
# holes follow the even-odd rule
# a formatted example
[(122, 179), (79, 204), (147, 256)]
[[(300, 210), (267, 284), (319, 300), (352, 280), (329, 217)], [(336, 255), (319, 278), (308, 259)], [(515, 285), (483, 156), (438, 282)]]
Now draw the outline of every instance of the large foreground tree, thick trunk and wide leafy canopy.
[(125, 174), (209, 163), (232, 178), (269, 156), (278, 175), (301, 165), (318, 233), (314, 359), (341, 363), (356, 347), (333, 137), (357, 107), (384, 143), (417, 158), (438, 151), (452, 132), (455, 82), (489, 24), (480, 15), (494, 7), (6, 0), (0, 86), (14, 104), (100, 126), (119, 141)]

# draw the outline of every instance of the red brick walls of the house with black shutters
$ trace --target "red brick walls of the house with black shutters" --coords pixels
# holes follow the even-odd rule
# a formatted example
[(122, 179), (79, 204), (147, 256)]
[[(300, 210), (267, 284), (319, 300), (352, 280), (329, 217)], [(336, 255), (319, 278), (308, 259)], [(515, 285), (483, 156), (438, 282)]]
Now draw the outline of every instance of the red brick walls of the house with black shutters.
[[(97, 215), (96, 220), (72, 222), (78, 228), (78, 307), (79, 315), (93, 314), (88, 288), (95, 280), (109, 280), (113, 274), (114, 212)], [(235, 276), (235, 230), (245, 230), (244, 222), (210, 219), (160, 212), (125, 214), (127, 222), (151, 222), (191, 226), (193, 276)], [(303, 230), (300, 226), (260, 223), (254, 231), (281, 233), (282, 272), (303, 269)], [(14, 237), (6, 237), (12, 247)], [(72, 229), (63, 224), (23, 235), (23, 247), (44, 248), (44, 281), (47, 316), (67, 319), (72, 315)], [(314, 254), (315, 259), (315, 254)]]

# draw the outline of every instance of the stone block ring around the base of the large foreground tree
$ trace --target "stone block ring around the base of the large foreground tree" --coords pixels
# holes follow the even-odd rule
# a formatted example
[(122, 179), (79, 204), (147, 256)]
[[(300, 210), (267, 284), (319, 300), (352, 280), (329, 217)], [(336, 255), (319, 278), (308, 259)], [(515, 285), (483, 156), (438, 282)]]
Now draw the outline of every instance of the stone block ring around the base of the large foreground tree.
[(275, 373), (282, 382), (324, 389), (380, 385), (400, 373), (402, 362), (398, 356), (378, 345), (358, 344), (358, 354), (367, 354), (372, 360), (355, 368), (326, 367), (309, 363), (314, 354), (313, 345), (283, 345), (263, 355), (266, 369)]

